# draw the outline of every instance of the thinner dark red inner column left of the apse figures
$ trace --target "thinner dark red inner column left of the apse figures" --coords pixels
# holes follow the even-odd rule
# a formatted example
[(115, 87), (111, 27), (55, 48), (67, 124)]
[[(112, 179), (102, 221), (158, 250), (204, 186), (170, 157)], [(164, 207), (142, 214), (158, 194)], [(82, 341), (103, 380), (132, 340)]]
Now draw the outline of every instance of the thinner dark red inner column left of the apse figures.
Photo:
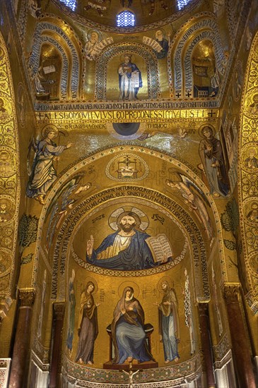
[(53, 305), (53, 350), (50, 364), (49, 388), (59, 386), (59, 365), (61, 361), (61, 336), (64, 325), (64, 303)]

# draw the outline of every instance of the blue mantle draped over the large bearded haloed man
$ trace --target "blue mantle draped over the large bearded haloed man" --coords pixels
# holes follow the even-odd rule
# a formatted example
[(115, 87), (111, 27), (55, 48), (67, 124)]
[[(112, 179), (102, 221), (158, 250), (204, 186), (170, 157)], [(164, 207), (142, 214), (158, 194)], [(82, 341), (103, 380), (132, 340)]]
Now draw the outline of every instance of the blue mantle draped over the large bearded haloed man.
[(134, 271), (159, 265), (159, 262), (154, 262), (151, 250), (145, 241), (150, 236), (142, 231), (135, 231), (134, 236), (131, 237), (129, 246), (121, 250), (116, 256), (98, 260), (98, 254), (113, 245), (117, 234), (118, 232), (115, 232), (107, 236), (100, 246), (96, 250), (93, 250), (91, 257), (86, 256), (87, 261), (98, 267), (120, 269), (122, 271)]

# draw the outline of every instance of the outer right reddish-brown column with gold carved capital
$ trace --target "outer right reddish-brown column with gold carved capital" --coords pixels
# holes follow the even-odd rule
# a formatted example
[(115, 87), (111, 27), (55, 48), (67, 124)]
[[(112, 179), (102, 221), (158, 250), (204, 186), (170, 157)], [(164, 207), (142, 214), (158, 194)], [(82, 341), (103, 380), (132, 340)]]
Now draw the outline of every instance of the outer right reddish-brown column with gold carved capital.
[(223, 296), (225, 298), (228, 313), (233, 360), (240, 387), (255, 388), (256, 384), (248, 347), (248, 339), (238, 300), (238, 297), (240, 296), (239, 291), (240, 284), (232, 283), (224, 285)]

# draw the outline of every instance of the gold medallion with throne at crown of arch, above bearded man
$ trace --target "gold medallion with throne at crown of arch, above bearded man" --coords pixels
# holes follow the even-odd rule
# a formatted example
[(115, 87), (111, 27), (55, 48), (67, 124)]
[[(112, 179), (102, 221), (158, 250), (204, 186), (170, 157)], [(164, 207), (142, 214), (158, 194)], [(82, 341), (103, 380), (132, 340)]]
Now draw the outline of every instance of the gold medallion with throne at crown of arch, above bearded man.
[(112, 181), (141, 181), (148, 176), (148, 165), (136, 154), (123, 153), (110, 160), (105, 173)]

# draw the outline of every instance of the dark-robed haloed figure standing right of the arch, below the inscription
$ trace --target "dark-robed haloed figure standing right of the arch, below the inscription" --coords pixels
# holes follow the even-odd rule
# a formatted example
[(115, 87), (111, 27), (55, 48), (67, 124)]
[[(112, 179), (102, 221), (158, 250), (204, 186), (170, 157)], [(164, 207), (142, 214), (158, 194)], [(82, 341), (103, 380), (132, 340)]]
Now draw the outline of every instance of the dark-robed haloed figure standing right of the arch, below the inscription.
[(229, 193), (229, 187), (221, 142), (214, 138), (211, 126), (204, 126), (201, 134), (204, 138), (199, 144), (199, 155), (209, 182), (210, 193), (217, 198), (225, 197)]

